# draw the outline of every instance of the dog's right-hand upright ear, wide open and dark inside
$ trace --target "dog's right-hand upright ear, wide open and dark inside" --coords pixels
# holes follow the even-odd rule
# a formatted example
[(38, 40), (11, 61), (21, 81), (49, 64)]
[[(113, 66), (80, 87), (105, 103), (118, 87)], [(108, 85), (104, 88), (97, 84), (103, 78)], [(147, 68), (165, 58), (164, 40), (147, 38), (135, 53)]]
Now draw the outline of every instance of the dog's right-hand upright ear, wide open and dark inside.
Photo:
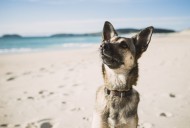
[(150, 43), (154, 28), (152, 26), (141, 30), (133, 38), (136, 47), (136, 57), (139, 58), (146, 51)]

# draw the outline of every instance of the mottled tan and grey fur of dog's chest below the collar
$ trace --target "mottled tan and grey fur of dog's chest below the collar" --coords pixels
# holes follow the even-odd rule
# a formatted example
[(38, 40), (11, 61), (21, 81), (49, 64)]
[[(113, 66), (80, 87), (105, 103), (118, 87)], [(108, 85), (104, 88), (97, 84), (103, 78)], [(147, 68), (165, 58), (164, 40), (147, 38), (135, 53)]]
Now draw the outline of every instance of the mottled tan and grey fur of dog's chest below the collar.
[[(107, 104), (108, 109), (108, 124), (115, 127), (125, 126), (129, 123), (129, 120), (137, 114), (137, 106), (139, 102), (138, 93), (133, 90), (133, 93), (129, 97), (121, 100), (118, 97), (110, 96)], [(112, 127), (111, 127), (112, 128)]]

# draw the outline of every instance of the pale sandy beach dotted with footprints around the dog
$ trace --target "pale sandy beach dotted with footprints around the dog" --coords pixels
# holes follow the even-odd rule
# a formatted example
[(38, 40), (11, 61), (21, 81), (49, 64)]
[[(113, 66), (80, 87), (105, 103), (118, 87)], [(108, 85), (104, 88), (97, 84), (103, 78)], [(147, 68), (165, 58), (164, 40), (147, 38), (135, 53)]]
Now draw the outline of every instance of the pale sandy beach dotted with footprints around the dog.
[[(90, 128), (98, 48), (1, 54), (0, 128)], [(190, 32), (153, 36), (139, 67), (139, 128), (189, 128)]]

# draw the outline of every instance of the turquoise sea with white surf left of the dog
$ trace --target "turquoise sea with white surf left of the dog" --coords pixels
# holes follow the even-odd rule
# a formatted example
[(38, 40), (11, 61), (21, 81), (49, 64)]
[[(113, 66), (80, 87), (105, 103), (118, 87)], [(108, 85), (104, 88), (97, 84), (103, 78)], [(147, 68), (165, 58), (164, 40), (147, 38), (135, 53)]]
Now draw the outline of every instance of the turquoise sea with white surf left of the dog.
[(0, 54), (89, 47), (99, 36), (0, 38)]

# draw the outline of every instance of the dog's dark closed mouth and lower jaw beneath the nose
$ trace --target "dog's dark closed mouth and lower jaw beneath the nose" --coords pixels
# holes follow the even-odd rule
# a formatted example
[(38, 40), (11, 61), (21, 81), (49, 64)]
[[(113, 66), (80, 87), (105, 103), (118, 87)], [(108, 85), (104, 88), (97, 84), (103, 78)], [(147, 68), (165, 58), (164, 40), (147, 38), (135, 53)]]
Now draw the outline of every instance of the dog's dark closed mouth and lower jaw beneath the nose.
[(104, 49), (101, 49), (101, 58), (103, 60), (103, 63), (112, 69), (119, 68), (122, 64), (124, 64), (124, 62), (111, 55), (110, 52), (105, 51)]

